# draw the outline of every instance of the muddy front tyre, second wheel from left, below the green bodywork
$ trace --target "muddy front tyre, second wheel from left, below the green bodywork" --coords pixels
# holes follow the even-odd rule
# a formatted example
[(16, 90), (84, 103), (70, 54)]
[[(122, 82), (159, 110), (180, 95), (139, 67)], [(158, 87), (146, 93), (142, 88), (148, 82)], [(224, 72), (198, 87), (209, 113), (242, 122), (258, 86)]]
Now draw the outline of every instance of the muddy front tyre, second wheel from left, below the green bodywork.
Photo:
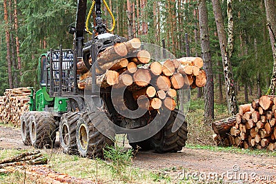
[(37, 148), (53, 147), (56, 139), (54, 116), (50, 112), (33, 112), (30, 115), (30, 142)]

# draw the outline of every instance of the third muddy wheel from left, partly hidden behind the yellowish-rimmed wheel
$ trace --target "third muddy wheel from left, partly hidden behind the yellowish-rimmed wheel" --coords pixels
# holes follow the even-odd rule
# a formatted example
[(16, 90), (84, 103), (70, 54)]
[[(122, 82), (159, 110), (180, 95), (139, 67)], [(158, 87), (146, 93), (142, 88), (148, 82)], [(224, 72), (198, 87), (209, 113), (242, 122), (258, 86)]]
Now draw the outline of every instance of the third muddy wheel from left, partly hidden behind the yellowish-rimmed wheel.
[(66, 154), (77, 153), (76, 128), (80, 115), (79, 112), (67, 112), (61, 117), (59, 143)]

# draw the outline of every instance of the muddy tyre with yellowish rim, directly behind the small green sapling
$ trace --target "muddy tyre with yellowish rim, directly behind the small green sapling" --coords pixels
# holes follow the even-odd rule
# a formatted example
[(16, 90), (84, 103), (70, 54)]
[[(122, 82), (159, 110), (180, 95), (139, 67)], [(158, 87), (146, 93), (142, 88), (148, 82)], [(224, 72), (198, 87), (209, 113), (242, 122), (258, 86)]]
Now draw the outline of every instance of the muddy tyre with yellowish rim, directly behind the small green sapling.
[[(97, 125), (101, 132), (97, 130)], [(108, 137), (103, 135), (102, 131), (107, 133)], [(76, 138), (81, 156), (103, 158), (105, 145), (114, 145), (115, 131), (104, 112), (83, 112), (77, 122)]]

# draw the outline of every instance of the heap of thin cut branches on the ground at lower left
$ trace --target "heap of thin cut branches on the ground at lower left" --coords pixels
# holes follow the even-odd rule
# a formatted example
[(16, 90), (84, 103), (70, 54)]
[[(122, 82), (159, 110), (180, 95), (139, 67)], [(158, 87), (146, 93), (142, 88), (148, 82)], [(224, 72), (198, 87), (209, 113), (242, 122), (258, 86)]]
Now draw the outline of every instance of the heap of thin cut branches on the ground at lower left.
[(18, 165), (43, 165), (47, 164), (48, 159), (41, 154), (40, 151), (24, 152), (17, 156), (12, 156), (0, 160), (0, 169), (3, 167), (18, 166)]

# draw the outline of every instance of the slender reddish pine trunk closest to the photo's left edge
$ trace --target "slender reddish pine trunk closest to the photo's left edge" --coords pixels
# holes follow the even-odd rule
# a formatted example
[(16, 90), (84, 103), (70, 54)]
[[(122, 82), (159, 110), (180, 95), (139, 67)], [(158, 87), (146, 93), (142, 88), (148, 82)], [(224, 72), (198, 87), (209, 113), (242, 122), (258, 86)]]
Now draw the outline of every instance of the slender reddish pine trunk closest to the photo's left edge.
[(7, 63), (8, 63), (8, 81), (10, 88), (13, 88), (12, 83), (12, 61), (10, 59), (10, 30), (8, 27), (8, 9), (7, 9), (7, 0), (3, 1), (3, 8), (4, 8), (4, 21), (5, 25), (5, 32), (6, 32), (6, 44), (7, 44)]

